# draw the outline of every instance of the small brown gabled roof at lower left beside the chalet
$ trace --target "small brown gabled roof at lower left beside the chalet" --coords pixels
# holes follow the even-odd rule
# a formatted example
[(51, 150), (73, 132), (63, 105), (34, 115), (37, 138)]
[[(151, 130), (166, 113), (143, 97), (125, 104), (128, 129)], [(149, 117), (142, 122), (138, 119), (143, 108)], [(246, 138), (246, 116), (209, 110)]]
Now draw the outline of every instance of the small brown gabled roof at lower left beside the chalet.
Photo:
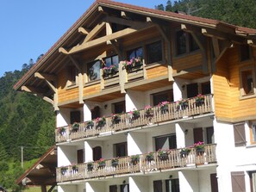
[(57, 167), (57, 150), (52, 146), (16, 180), (19, 185), (55, 185)]

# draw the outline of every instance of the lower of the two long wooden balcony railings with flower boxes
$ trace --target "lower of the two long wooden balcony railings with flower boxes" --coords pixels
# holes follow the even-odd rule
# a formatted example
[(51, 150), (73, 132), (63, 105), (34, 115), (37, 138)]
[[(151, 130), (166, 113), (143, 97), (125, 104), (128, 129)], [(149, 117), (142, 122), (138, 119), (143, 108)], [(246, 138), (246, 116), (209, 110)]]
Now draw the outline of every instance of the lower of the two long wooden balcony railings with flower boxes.
[(138, 155), (138, 159), (132, 161), (132, 157), (116, 158), (105, 160), (104, 164), (98, 162), (76, 164), (66, 167), (59, 167), (56, 170), (57, 182), (67, 182), (96, 177), (108, 177), (122, 174), (146, 173), (158, 170), (171, 170), (175, 168), (198, 167), (203, 164), (216, 163), (215, 145), (204, 146), (204, 152), (197, 152), (191, 148), (188, 154), (181, 154), (182, 149), (170, 150), (161, 156), (159, 152)]

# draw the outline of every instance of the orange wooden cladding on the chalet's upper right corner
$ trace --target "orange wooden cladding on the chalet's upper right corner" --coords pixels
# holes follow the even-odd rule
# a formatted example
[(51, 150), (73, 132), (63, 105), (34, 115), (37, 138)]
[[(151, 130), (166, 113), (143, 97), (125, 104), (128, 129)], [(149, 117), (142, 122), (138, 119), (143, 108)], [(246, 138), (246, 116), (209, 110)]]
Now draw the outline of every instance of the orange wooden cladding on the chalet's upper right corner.
[[(256, 96), (246, 98), (240, 96), (240, 70), (245, 67), (254, 66), (255, 61), (249, 59), (240, 62), (239, 46), (228, 49), (216, 64), (216, 71), (213, 75), (213, 86), (215, 94), (215, 115), (222, 121), (247, 121), (256, 118)], [(253, 47), (253, 56), (256, 56)]]

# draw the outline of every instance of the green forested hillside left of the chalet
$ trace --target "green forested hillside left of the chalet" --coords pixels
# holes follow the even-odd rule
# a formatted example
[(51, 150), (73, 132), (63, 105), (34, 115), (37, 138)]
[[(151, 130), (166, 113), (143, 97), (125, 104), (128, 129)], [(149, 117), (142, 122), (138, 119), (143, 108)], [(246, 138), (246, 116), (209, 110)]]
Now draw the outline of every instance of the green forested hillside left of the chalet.
[(13, 89), (32, 65), (30, 59), (28, 65), (22, 65), (22, 71), (8, 71), (0, 77), (0, 183), (11, 191), (21, 191), (15, 184), (25, 171), (21, 167), (21, 146), (26, 161), (40, 158), (54, 144), (53, 107), (40, 97)]

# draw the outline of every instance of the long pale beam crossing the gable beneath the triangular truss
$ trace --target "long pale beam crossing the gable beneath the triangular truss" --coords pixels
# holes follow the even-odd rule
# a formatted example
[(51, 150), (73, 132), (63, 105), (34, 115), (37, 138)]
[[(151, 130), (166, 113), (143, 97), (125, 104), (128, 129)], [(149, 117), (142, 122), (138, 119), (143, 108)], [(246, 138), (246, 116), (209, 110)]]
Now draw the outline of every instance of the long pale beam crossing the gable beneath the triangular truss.
[(79, 45), (79, 46), (74, 46), (68, 52), (68, 54), (78, 53), (78, 52), (84, 51), (85, 49), (88, 49), (88, 48), (91, 48), (91, 47), (103, 44), (107, 40), (116, 40), (116, 39), (124, 37), (124, 36), (126, 36), (128, 34), (133, 34), (133, 33), (137, 32), (139, 30), (146, 29), (146, 28), (152, 28), (153, 27), (153, 25), (148, 25), (148, 24), (147, 25), (134, 26), (133, 28), (125, 28), (125, 29), (123, 29), (121, 31), (118, 31), (116, 33), (100, 37), (100, 38), (98, 38), (96, 40), (91, 40), (90, 42), (83, 43), (82, 45)]

